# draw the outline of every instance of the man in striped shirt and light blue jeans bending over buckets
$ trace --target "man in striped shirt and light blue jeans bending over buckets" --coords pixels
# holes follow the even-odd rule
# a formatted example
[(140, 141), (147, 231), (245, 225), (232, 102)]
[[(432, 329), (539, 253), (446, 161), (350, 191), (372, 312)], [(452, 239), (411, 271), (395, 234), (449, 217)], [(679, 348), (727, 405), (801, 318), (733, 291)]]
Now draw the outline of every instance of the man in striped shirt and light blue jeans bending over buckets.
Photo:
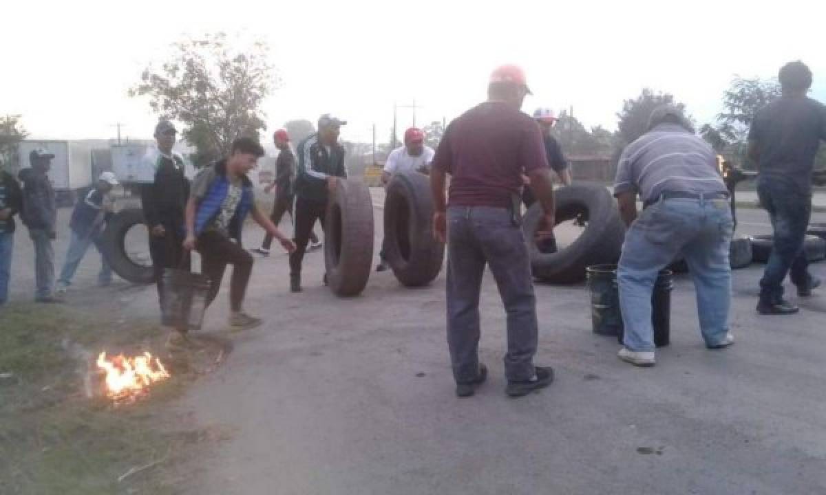
[[(653, 287), (678, 254), (686, 258), (694, 279), (705, 346), (733, 344), (729, 192), (714, 150), (694, 134), (679, 110), (659, 106), (652, 112), (648, 133), (619, 158), (614, 194), (629, 226), (617, 270), (625, 328), (619, 358), (638, 366), (655, 364)], [(639, 216), (637, 195), (643, 200)]]

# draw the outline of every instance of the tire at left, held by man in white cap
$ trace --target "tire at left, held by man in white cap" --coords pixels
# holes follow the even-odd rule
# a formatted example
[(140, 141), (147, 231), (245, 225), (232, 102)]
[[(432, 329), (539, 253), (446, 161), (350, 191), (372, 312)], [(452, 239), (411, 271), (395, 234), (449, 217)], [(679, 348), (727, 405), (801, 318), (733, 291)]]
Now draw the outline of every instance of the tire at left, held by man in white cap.
[(138, 224), (146, 224), (140, 208), (126, 208), (114, 214), (102, 234), (103, 255), (112, 266), (112, 271), (125, 281), (151, 284), (154, 282), (152, 266), (139, 265), (126, 254), (126, 233)]

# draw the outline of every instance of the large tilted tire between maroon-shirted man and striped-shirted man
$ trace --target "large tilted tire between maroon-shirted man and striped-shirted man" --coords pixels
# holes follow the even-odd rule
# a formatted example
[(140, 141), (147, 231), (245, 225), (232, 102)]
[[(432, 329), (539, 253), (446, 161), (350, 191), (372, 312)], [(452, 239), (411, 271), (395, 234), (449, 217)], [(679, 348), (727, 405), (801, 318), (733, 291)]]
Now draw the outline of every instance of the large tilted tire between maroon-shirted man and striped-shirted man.
[(522, 229), (534, 277), (553, 284), (574, 284), (585, 280), (588, 266), (618, 262), (625, 226), (605, 186), (575, 184), (558, 189), (554, 196), (557, 224), (581, 215), (588, 223), (570, 246), (558, 252), (541, 252), (535, 233), (542, 221), (542, 207), (539, 203), (531, 206)]

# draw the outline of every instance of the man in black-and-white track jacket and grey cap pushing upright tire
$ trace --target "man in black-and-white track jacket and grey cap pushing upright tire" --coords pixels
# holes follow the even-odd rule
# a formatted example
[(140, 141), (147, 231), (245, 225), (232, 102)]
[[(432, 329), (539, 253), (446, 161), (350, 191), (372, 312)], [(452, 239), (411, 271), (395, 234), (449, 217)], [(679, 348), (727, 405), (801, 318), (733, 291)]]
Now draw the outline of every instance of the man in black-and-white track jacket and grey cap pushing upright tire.
[[(290, 256), (290, 290), (301, 292), (301, 261), (310, 233), (318, 220), (324, 227), (327, 196), (335, 190), (338, 177), (347, 177), (344, 148), (339, 144), (339, 130), (347, 122), (321, 115), (318, 133), (298, 145), (296, 179), (296, 252)], [(325, 281), (327, 276), (325, 275)]]

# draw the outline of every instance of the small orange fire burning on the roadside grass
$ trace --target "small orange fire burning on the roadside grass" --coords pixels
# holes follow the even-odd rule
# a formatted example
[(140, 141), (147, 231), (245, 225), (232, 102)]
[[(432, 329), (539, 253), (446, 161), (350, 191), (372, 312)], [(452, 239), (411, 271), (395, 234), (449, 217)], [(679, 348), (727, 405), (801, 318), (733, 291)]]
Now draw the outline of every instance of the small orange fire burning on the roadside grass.
[(106, 374), (107, 395), (116, 400), (136, 398), (145, 394), (150, 384), (169, 378), (164, 365), (149, 352), (135, 357), (121, 354), (110, 360), (103, 351), (97, 356), (97, 368)]

